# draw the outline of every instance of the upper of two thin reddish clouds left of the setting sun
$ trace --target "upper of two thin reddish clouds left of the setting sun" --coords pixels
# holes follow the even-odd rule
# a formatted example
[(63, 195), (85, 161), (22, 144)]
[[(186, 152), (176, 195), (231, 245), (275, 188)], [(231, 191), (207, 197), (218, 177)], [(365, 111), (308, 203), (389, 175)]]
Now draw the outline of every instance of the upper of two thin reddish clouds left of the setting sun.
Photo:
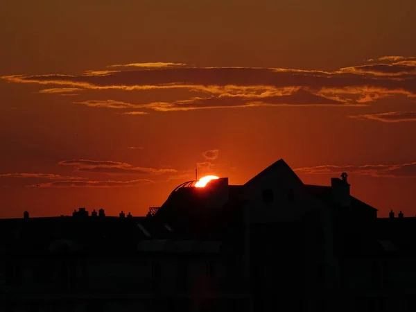
[(72, 166), (76, 171), (90, 173), (106, 173), (114, 175), (136, 174), (136, 175), (162, 175), (165, 173), (177, 173), (177, 170), (171, 168), (143, 168), (132, 166), (125, 162), (113, 162), (110, 160), (89, 160), (89, 159), (72, 159), (59, 162), (61, 166)]

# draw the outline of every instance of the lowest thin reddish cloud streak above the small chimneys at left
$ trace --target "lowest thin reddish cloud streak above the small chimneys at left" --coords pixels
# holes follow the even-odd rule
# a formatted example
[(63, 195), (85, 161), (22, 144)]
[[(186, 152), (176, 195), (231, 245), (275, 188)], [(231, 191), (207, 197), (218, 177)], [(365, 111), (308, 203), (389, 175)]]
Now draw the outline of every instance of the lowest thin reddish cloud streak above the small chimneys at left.
[(154, 183), (152, 180), (130, 180), (130, 181), (53, 181), (41, 184), (32, 184), (29, 187), (137, 187), (143, 184)]

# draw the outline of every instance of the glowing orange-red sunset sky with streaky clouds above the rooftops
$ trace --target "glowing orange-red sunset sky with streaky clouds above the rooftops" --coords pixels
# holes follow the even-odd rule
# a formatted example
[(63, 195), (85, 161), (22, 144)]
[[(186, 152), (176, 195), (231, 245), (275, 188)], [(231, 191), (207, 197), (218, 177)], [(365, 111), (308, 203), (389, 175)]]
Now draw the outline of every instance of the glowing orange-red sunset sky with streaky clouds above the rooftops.
[(2, 2), (0, 218), (144, 215), (283, 158), (415, 216), (415, 0)]

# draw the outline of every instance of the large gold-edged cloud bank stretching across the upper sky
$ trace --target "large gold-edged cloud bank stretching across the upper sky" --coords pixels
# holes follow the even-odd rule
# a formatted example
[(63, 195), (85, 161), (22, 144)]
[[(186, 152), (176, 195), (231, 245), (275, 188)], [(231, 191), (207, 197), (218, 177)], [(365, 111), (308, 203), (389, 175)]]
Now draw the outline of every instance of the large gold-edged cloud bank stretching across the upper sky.
[[(371, 64), (336, 71), (186, 67), (182, 63), (132, 63), (128, 71), (88, 71), (80, 76), (1, 76), (10, 83), (34, 83), (78, 89), (189, 89), (207, 96), (173, 103), (77, 102), (94, 107), (158, 110), (195, 110), (212, 107), (261, 105), (357, 105), (397, 94), (416, 96), (416, 58), (386, 56)], [(138, 70), (137, 68), (146, 68)], [(128, 114), (137, 114), (128, 112)]]

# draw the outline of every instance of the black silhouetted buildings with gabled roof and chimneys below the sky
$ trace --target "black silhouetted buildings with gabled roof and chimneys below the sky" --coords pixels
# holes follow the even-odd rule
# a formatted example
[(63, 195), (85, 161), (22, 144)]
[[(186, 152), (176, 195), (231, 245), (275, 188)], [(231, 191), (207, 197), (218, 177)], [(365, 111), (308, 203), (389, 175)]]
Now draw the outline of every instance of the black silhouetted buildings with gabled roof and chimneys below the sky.
[(146, 217), (0, 220), (0, 311), (416, 311), (416, 218), (377, 218), (346, 174), (193, 184)]

